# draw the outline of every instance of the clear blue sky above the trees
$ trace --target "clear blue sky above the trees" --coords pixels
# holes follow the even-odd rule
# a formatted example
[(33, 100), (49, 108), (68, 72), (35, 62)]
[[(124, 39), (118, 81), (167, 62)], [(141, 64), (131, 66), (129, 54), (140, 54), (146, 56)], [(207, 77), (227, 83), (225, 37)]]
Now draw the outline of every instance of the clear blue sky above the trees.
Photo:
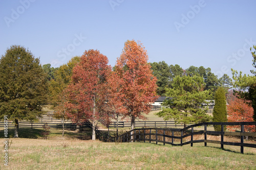
[(231, 68), (250, 74), (256, 1), (0, 1), (0, 55), (22, 45), (53, 67), (85, 50), (115, 65), (126, 40), (140, 40), (149, 62)]

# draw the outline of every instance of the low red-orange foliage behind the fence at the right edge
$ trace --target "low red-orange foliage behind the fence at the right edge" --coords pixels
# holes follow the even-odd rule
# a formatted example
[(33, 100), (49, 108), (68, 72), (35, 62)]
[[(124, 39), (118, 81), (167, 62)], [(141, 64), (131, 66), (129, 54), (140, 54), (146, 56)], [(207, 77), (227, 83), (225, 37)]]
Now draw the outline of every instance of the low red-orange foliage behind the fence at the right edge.
[[(249, 101), (232, 98), (227, 105), (228, 122), (253, 122), (253, 108), (248, 105)], [(230, 131), (240, 130), (240, 126), (228, 126)], [(244, 126), (245, 132), (255, 132), (254, 125)]]

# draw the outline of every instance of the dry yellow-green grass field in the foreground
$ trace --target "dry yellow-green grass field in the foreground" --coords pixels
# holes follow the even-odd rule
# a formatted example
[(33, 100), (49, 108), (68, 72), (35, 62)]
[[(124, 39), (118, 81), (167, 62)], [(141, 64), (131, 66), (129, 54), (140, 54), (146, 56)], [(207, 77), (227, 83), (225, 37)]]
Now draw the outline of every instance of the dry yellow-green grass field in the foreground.
[(240, 147), (225, 145), (221, 150), (218, 144), (115, 144), (89, 140), (90, 131), (66, 131), (62, 137), (61, 130), (53, 129), (46, 140), (41, 139), (41, 131), (20, 129), (20, 138), (10, 138), (9, 166), (3, 163), (2, 149), (1, 169), (256, 169), (254, 148), (245, 147), (245, 154), (240, 154)]

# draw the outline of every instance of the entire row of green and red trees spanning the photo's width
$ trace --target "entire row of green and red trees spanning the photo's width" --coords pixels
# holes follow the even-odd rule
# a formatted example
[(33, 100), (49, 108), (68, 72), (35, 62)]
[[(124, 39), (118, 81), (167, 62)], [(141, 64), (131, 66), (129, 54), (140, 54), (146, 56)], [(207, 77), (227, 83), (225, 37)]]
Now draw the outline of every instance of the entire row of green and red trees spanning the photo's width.
[[(251, 54), (256, 67), (255, 51)], [(157, 115), (166, 120), (174, 118), (184, 126), (229, 121), (227, 114), (234, 112), (232, 102), (238, 105), (241, 101), (253, 108), (255, 121), (256, 74), (253, 70), (254, 76), (232, 72), (233, 82), (227, 75), (218, 79), (210, 68), (203, 66), (183, 69), (164, 61), (148, 63), (143, 44), (134, 40), (124, 43), (113, 68), (97, 50), (85, 51), (58, 68), (50, 64), (41, 66), (25, 47), (12, 45), (0, 59), (0, 118), (8, 115), (14, 120), (18, 137), (18, 120), (33, 122), (44, 113), (42, 107), (50, 103), (55, 117), (63, 123), (67, 119), (78, 124), (89, 121), (95, 140), (98, 122), (107, 126), (111, 119), (128, 118), (133, 129), (135, 119), (146, 119), (151, 104), (159, 96), (168, 96), (163, 103), (165, 108)], [(236, 90), (228, 90), (231, 87)], [(201, 108), (206, 100), (216, 101), (214, 117), (206, 114), (207, 108)], [(219, 104), (222, 109), (218, 110)], [(252, 109), (241, 107), (252, 113)]]

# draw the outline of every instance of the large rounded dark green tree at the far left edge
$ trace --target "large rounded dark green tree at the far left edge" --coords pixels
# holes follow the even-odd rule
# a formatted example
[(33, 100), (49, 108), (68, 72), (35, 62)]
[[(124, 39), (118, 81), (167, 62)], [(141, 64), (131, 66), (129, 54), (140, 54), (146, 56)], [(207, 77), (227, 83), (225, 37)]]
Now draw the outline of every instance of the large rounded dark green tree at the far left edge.
[(47, 102), (47, 75), (39, 59), (25, 47), (12, 45), (0, 60), (0, 118), (34, 120)]

